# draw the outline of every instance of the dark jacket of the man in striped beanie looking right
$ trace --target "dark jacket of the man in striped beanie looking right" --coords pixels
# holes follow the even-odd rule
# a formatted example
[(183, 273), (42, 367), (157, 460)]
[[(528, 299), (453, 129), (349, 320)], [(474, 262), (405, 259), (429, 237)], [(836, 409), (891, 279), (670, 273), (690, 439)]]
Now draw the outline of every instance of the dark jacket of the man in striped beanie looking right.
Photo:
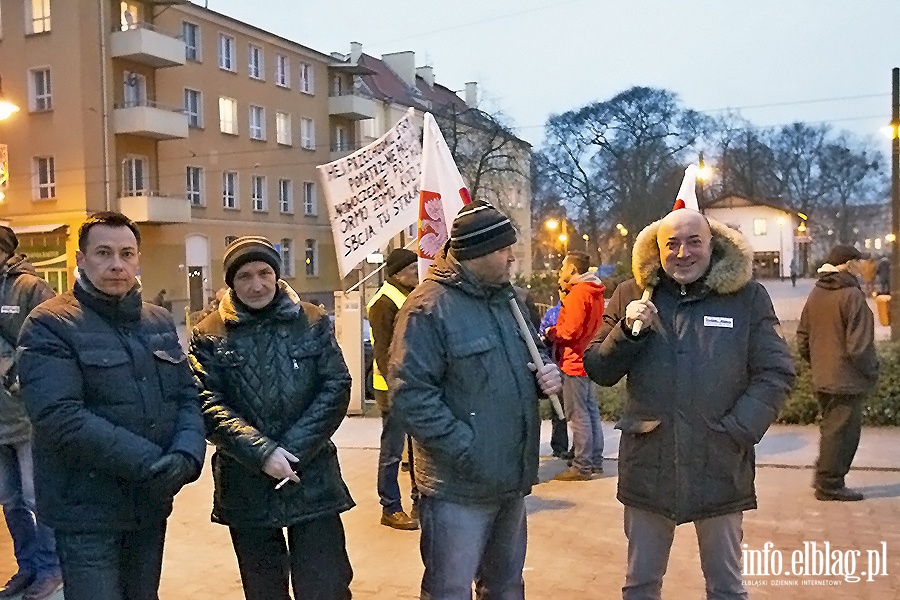
[(400, 309), (388, 389), (415, 441), (424, 494), (491, 502), (537, 483), (538, 389), (510, 312), (515, 297), (511, 285), (485, 286), (443, 256)]

